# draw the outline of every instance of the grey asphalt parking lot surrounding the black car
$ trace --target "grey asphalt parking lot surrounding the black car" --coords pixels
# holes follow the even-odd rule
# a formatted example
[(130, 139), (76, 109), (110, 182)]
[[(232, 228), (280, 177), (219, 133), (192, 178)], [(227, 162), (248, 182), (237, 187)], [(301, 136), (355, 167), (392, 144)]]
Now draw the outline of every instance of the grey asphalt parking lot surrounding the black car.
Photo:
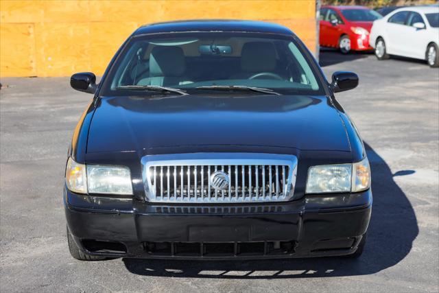
[(374, 207), (357, 260), (81, 262), (62, 207), (67, 148), (91, 95), (69, 78), (3, 78), (1, 292), (438, 292), (439, 70), (414, 60), (323, 51), (324, 73), (355, 71), (337, 94), (372, 165)]

